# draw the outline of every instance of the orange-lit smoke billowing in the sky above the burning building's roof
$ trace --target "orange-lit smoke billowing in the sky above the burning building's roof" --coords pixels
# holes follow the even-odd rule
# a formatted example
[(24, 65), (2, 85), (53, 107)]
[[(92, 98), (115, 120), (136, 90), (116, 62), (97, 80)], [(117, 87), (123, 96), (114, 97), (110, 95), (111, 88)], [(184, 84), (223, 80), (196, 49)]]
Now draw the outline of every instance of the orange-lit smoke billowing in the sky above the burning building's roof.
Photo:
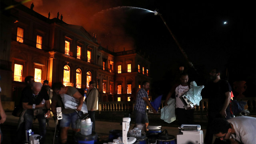
[(120, 0), (31, 0), (24, 5), (30, 8), (32, 2), (33, 10), (43, 16), (48, 17), (50, 12), (52, 19), (56, 18), (59, 12), (64, 22), (83, 26), (91, 35), (96, 34), (101, 46), (110, 51), (119, 52), (124, 48), (135, 48), (134, 39), (124, 27), (134, 7), (122, 6)]

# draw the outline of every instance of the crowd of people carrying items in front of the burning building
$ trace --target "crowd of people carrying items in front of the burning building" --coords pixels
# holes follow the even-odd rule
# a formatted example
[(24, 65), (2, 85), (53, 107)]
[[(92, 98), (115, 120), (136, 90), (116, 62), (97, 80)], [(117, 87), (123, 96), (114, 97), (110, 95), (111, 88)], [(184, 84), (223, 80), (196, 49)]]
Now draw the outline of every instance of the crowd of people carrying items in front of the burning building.
[[(164, 105), (168, 105), (168, 100), (172, 97), (175, 102), (175, 115), (179, 126), (182, 124), (194, 124), (194, 109), (185, 108), (185, 104), (181, 100), (181, 96), (188, 92), (190, 84), (187, 73), (180, 74), (180, 82), (170, 88), (170, 92), (166, 96)], [(252, 144), (256, 141), (254, 134), (256, 133), (256, 118), (242, 116), (232, 118), (230, 99), (231, 86), (228, 81), (220, 78), (220, 70), (213, 68), (210, 71), (210, 80), (205, 92), (208, 95), (208, 126), (204, 139), (205, 144), (212, 144), (213, 136), (216, 137), (214, 144), (221, 144), (223, 140), (230, 144)], [(88, 117), (92, 121), (92, 130), (95, 131), (95, 111), (97, 110), (98, 89), (96, 82), (90, 81), (88, 89), (84, 89), (84, 94), (81, 94), (78, 89), (72, 86), (64, 86), (62, 82), (55, 82), (52, 88), (48, 85), (48, 80), (44, 83), (35, 82), (33, 76), (25, 78), (26, 87), (23, 88), (20, 98), (19, 107), (22, 112), (19, 115), (16, 143), (24, 141), (24, 131), (31, 130), (33, 121), (37, 118), (39, 122), (40, 144), (44, 144), (46, 139), (46, 124), (48, 118), (53, 114), (53, 118), (58, 122), (57, 107), (62, 109), (62, 119), (59, 120), (60, 143), (65, 144), (68, 138), (68, 129), (71, 125), (74, 133), (80, 131), (80, 118), (84, 113), (81, 111), (83, 103), (86, 102)], [(151, 108), (154, 114), (158, 110), (154, 109), (148, 99), (148, 90), (150, 82), (142, 82), (142, 88), (138, 90), (136, 102), (134, 105), (135, 124), (145, 124), (145, 130), (149, 124), (146, 107)], [(1, 93), (1, 88), (0, 88)], [(78, 105), (75, 109), (66, 108), (66, 102), (62, 100), (63, 96), (71, 96), (78, 100)], [(51, 104), (50, 104), (51, 99)], [(6, 114), (2, 108), (0, 101), (0, 124), (6, 120)], [(0, 139), (2, 141), (2, 132), (0, 130)], [(1, 142), (0, 141), (0, 142)]]

